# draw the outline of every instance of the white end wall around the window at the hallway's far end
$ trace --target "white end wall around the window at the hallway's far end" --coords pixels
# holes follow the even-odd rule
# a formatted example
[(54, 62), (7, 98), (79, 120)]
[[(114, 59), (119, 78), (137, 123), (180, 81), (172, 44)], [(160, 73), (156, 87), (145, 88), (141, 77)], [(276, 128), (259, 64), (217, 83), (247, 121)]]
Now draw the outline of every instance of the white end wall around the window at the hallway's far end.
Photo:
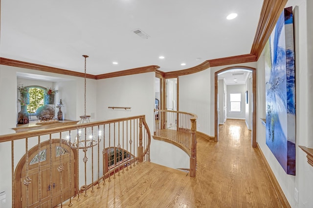
[[(241, 112), (230, 112), (230, 94), (240, 93), (241, 94)], [(227, 85), (227, 118), (229, 119), (246, 119), (246, 85)]]

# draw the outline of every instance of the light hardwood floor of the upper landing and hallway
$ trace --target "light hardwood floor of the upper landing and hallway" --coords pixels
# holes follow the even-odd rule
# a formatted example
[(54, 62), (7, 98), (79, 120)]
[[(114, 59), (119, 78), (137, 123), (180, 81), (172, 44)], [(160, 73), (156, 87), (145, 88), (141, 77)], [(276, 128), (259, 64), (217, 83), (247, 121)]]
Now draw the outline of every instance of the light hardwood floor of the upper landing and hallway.
[[(197, 138), (197, 173), (145, 162), (72, 200), (79, 208), (280, 208), (251, 131), (227, 120), (218, 142)], [(67, 206), (65, 203), (64, 206)]]

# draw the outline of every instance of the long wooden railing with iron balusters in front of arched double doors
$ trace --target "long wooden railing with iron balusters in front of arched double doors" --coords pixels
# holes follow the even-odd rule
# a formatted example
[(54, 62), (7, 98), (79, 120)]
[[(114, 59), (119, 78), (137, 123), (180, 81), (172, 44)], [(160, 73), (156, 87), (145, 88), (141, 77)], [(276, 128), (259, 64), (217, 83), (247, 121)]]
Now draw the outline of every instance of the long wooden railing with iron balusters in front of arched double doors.
[(11, 147), (12, 207), (70, 206), (150, 161), (150, 138), (144, 115), (0, 135)]

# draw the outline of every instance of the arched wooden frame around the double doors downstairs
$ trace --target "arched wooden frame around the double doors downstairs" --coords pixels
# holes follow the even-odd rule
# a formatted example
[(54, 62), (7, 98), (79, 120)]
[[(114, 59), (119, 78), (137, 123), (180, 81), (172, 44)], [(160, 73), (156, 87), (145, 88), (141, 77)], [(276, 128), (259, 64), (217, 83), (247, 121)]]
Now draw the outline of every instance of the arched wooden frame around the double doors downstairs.
[[(67, 145), (67, 140), (65, 139), (62, 139), (62, 144), (65, 144)], [(60, 143), (60, 139), (51, 139), (51, 144), (54, 144), (54, 143)], [(46, 140), (44, 142), (42, 142), (40, 145), (43, 147), (45, 145), (49, 145), (50, 144), (50, 140)], [(68, 145), (67, 145), (68, 146)], [(69, 150), (72, 151), (72, 155), (74, 156), (74, 161), (77, 161), (77, 151), (74, 151), (73, 149), (71, 149), (69, 146), (68, 146)], [(34, 153), (35, 151), (38, 151), (38, 144), (36, 146), (34, 146), (33, 148), (31, 148), (30, 150), (28, 150), (28, 156), (32, 155), (32, 153)], [(19, 161), (19, 163), (17, 164), (16, 166), (16, 169), (15, 169), (15, 172), (14, 172), (14, 182), (12, 184), (12, 187), (14, 187), (15, 191), (15, 196), (14, 196), (14, 201), (12, 200), (12, 206), (16, 206), (16, 207), (21, 207), (21, 197), (22, 197), (22, 193), (21, 193), (21, 186), (17, 186), (18, 184), (21, 184), (22, 185), (22, 182), (21, 182), (21, 177), (22, 177), (22, 168), (24, 166), (26, 162), (26, 153), (22, 156), (21, 160)], [(73, 170), (74, 170), (74, 175), (78, 175), (77, 174), (77, 162), (74, 163), (74, 167), (73, 167)], [(75, 180), (72, 182), (74, 183), (75, 185), (75, 195), (77, 194), (77, 191), (78, 189), (76, 189), (76, 184), (77, 184), (77, 177), (75, 177)], [(19, 188), (19, 190), (18, 190)], [(51, 199), (52, 200), (52, 199)], [(16, 202), (19, 202), (19, 203), (16, 203)], [(20, 205), (20, 206), (18, 206)]]

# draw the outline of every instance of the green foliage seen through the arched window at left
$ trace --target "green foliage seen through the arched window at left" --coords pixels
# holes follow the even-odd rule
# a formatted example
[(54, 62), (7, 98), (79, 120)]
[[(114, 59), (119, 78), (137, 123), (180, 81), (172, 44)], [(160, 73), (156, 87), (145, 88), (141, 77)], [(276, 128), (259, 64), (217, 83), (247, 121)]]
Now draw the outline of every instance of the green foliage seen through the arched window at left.
[(29, 105), (27, 106), (28, 113), (36, 113), (36, 110), (44, 105), (45, 91), (42, 88), (29, 88)]

